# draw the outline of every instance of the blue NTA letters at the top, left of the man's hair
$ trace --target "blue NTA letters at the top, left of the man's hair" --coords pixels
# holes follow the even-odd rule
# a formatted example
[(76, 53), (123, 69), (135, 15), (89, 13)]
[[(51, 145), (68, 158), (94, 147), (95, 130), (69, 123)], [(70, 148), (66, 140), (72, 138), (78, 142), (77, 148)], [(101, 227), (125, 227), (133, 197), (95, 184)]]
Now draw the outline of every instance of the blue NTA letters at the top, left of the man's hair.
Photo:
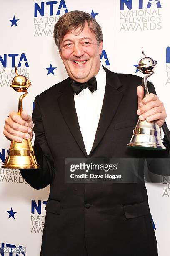
[[(48, 5), (48, 10), (50, 12), (50, 16), (52, 15), (60, 15), (61, 8), (65, 9), (64, 12), (67, 13), (67, 7), (64, 0), (60, 1), (60, 4), (58, 6), (57, 12), (54, 14), (54, 5), (57, 4), (57, 1), (48, 1), (46, 2), (46, 5)], [(45, 5), (44, 2), (41, 2), (41, 6), (38, 3), (35, 3), (34, 5), (34, 17), (37, 17), (37, 13), (39, 13), (41, 16), (44, 16), (45, 11)]]

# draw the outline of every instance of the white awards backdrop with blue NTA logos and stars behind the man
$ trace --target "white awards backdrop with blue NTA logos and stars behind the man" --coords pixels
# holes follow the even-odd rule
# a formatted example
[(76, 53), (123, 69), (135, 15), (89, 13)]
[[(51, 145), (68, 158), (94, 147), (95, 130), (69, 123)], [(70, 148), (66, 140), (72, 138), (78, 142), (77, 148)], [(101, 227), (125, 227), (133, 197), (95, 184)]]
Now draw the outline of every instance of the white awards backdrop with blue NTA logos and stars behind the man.
[[(32, 82), (24, 99), (24, 109), (31, 114), (35, 96), (67, 77), (52, 33), (58, 18), (71, 10), (91, 13), (102, 26), (101, 62), (108, 69), (142, 75), (136, 69), (142, 46), (158, 61), (150, 81), (165, 104), (170, 127), (170, 1), (1, 0), (0, 165), (10, 146), (3, 136), (4, 120), (17, 111), (20, 96), (9, 87), (14, 67)], [(170, 184), (147, 184), (147, 189), (159, 256), (169, 256)], [(48, 194), (49, 187), (31, 188), (18, 169), (0, 169), (0, 247), (23, 246), (26, 255), (40, 255)]]

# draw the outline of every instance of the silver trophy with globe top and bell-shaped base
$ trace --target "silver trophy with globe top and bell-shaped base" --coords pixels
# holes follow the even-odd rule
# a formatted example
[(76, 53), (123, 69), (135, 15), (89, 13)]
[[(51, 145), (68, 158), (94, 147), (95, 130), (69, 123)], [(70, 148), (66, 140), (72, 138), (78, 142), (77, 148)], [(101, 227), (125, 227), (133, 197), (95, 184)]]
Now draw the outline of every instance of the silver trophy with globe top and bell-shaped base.
[[(154, 61), (150, 57), (147, 57), (142, 48), (144, 58), (139, 61), (137, 69), (140, 70), (145, 76), (143, 77), (144, 97), (149, 94), (147, 79), (154, 74), (155, 65), (157, 61)], [(156, 122), (147, 122), (146, 120), (138, 120), (135, 129), (133, 130), (133, 136), (127, 145), (129, 148), (136, 149), (149, 149), (149, 150), (165, 150), (161, 136), (160, 128)]]

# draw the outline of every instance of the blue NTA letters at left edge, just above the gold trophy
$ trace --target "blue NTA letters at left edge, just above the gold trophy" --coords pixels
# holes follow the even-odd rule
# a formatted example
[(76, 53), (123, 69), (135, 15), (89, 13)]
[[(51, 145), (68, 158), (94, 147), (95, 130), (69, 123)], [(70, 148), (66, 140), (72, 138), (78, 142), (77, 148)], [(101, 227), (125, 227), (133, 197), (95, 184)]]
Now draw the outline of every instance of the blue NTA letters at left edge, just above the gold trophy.
[(2, 64), (2, 66), (4, 68), (6, 68), (7, 67), (7, 62), (10, 61), (11, 62), (11, 67), (13, 67), (13, 68), (15, 66), (21, 67), (22, 62), (25, 62), (25, 67), (29, 67), (28, 60), (27, 60), (27, 57), (26, 57), (25, 53), (22, 53), (19, 56), (20, 59), (19, 59), (19, 62), (17, 62), (18, 63), (18, 65), (17, 65), (16, 64), (16, 57), (18, 57), (18, 56), (19, 56), (19, 54), (8, 54), (8, 55), (4, 54), (3, 57), (0, 55), (0, 66)]

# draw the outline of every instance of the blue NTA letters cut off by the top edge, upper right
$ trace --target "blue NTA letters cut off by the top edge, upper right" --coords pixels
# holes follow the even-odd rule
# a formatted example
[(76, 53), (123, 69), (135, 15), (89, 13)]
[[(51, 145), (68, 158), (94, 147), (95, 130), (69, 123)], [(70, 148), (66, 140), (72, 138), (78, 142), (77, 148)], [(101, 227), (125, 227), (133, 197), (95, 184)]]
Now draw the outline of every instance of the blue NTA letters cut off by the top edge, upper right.
[[(135, 0), (135, 3), (137, 2), (137, 0)], [(138, 0), (138, 8), (139, 9), (150, 9), (150, 7), (152, 6), (153, 2), (156, 3), (158, 8), (161, 8), (161, 4), (160, 4), (160, 0), (147, 0), (148, 4), (146, 6), (143, 6), (143, 0)], [(131, 10), (132, 9), (132, 4), (134, 3), (134, 0), (120, 0), (120, 10), (124, 10), (124, 6), (126, 5), (126, 7)]]

